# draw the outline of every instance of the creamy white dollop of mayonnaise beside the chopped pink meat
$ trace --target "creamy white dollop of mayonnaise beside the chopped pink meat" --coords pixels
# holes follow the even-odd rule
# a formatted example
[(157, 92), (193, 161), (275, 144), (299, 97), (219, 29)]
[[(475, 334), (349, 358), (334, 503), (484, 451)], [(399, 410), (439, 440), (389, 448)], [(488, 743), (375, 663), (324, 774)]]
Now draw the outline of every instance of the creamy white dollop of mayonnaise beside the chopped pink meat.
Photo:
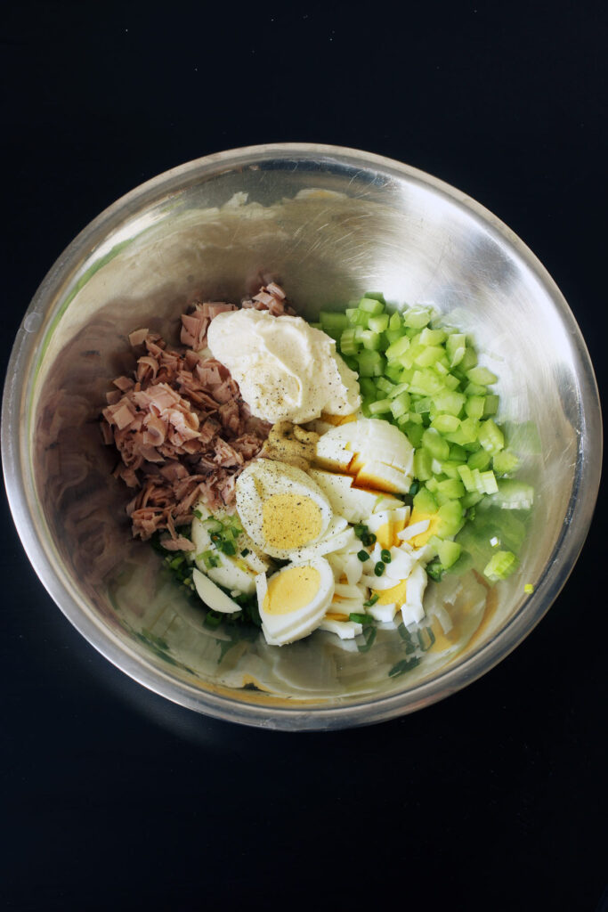
[(226, 311), (211, 320), (207, 344), (257, 418), (303, 424), (322, 411), (350, 415), (361, 404), (356, 373), (334, 339), (301, 316)]

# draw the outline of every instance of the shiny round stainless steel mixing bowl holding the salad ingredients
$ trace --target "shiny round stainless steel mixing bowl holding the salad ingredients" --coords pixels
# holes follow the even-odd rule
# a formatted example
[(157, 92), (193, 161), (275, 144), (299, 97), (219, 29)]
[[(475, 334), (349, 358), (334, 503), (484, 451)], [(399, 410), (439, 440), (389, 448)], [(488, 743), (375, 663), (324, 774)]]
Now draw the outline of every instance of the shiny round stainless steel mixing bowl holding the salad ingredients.
[[(540, 435), (522, 469), (536, 503), (518, 573), (491, 590), (472, 574), (435, 586), (431, 601), (453, 626), (436, 628), (436, 643), (407, 673), (394, 673), (411, 651), (395, 630), (379, 631), (371, 648), (321, 632), (270, 648), (262, 637), (211, 630), (165, 579), (158, 555), (130, 540), (129, 492), (111, 477), (113, 457), (98, 430), (108, 381), (132, 364), (126, 336), (149, 326), (175, 337), (191, 292), (238, 301), (261, 274), (282, 282), (312, 318), (370, 288), (397, 306), (432, 304), (474, 335), (483, 363), (499, 375), (502, 419), (532, 422)], [(110, 661), (193, 710), (322, 729), (439, 700), (531, 631), (587, 534), (601, 415), (570, 309), (499, 219), (397, 161), (268, 145), (161, 174), (77, 236), (17, 334), (2, 448), (11, 509), (36, 573)]]

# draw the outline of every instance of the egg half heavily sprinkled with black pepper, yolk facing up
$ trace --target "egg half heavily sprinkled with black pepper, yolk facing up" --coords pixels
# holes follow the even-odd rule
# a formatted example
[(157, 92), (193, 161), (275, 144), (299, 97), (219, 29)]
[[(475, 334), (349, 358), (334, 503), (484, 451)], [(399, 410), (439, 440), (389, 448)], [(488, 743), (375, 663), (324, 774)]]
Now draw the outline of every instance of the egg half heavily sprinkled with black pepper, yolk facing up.
[(236, 510), (253, 542), (281, 559), (319, 541), (332, 518), (325, 493), (306, 472), (267, 459), (239, 475)]

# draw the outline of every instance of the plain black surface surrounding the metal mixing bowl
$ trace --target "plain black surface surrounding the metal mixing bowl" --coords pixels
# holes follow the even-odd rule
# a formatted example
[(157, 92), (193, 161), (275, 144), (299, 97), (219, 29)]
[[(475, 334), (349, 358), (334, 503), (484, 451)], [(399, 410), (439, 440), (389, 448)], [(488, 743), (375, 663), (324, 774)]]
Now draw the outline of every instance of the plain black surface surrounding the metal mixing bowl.
[[(605, 8), (5, 5), (3, 368), (46, 270), (122, 193), (300, 140), (407, 161), (499, 215), (562, 288), (602, 388)], [(500, 666), (413, 716), (299, 735), (197, 716), (110, 666), (3, 509), (6, 908), (600, 907), (602, 497)]]

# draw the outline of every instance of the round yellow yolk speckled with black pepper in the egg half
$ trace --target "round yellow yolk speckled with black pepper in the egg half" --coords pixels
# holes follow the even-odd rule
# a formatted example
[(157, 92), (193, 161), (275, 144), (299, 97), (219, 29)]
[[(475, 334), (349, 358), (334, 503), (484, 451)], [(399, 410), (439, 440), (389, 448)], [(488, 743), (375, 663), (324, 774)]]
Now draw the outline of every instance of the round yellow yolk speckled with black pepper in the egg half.
[(321, 534), (321, 509), (305, 494), (273, 494), (263, 504), (262, 532), (273, 548), (299, 548)]

